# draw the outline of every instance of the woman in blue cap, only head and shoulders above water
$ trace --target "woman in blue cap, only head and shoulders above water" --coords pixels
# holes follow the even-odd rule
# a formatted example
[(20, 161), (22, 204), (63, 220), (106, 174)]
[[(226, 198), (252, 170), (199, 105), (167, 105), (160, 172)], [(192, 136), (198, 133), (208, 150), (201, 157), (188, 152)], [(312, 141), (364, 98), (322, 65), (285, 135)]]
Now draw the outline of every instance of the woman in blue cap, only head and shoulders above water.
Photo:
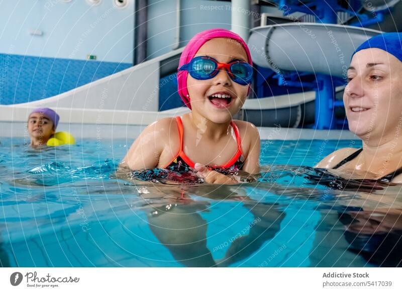
[(364, 42), (353, 54), (343, 100), (363, 148), (344, 148), (316, 168), (342, 177), (402, 183), (402, 33)]

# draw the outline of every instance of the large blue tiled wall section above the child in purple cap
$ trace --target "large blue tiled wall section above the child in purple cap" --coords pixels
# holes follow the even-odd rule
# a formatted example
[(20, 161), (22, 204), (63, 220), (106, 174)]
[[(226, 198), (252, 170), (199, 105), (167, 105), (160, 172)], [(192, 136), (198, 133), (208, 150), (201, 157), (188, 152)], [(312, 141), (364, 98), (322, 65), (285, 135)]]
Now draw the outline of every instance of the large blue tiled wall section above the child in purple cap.
[(0, 54), (0, 104), (43, 99), (132, 64)]

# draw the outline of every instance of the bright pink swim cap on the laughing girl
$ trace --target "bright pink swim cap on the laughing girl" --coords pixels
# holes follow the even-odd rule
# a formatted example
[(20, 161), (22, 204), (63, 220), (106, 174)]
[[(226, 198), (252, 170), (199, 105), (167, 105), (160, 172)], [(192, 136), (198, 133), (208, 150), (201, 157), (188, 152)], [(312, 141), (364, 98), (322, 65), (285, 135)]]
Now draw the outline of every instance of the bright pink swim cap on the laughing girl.
[[(185, 46), (183, 52), (181, 53), (180, 61), (179, 61), (179, 68), (181, 66), (183, 66), (184, 64), (187, 64), (188, 62), (190, 62), (191, 59), (194, 58), (195, 54), (198, 52), (199, 48), (202, 47), (206, 42), (208, 42), (209, 40), (212, 40), (212, 39), (216, 39), (216, 38), (228, 38), (228, 39), (233, 39), (233, 40), (238, 41), (243, 46), (244, 50), (246, 51), (248, 63), (251, 66), (253, 65), (253, 62), (251, 60), (250, 50), (248, 49), (246, 42), (238, 34), (235, 34), (231, 31), (228, 31), (225, 29), (211, 29), (211, 30), (206, 30), (206, 31), (200, 32), (192, 37), (192, 39), (188, 42), (188, 44)], [(187, 97), (187, 94), (188, 94), (187, 76), (188, 76), (188, 71), (186, 71), (186, 70), (177, 72), (177, 91), (178, 91), (181, 99), (184, 101), (185, 105), (191, 109), (190, 98)], [(250, 91), (250, 85), (248, 88), (248, 92), (249, 91)], [(247, 94), (248, 94), (248, 92), (247, 92)]]

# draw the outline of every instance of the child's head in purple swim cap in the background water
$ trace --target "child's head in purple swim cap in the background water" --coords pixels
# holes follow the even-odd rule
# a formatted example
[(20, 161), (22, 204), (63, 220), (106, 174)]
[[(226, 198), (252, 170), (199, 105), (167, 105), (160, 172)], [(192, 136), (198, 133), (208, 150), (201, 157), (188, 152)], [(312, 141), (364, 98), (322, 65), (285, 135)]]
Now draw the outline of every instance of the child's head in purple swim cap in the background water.
[(59, 115), (50, 108), (35, 108), (28, 117), (28, 132), (31, 137), (32, 147), (46, 145), (54, 135)]

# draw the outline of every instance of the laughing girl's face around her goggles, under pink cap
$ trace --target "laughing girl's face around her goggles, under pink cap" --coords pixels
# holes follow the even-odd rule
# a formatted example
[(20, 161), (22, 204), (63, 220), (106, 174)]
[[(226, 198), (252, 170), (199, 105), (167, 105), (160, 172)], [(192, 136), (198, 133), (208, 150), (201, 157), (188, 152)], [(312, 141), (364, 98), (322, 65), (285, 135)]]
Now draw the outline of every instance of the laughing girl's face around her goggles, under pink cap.
[[(209, 56), (219, 63), (230, 63), (235, 59), (248, 61), (242, 45), (232, 39), (217, 38), (206, 42), (199, 48), (196, 56)], [(187, 90), (191, 110), (215, 123), (225, 123), (232, 119), (247, 97), (248, 85), (241, 85), (230, 79), (226, 70), (214, 78), (197, 80), (187, 77)], [(214, 94), (227, 94), (230, 98), (212, 97)]]

